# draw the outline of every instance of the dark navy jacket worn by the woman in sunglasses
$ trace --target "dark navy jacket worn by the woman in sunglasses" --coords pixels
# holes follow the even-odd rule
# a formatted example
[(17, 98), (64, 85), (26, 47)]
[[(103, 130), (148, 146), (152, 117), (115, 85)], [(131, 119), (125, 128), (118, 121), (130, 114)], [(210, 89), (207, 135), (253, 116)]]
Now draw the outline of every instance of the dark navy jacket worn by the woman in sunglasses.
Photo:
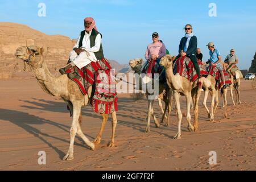
[[(188, 38), (181, 38), (180, 40), (180, 46), (179, 46), (179, 53), (181, 52), (181, 50), (184, 49), (184, 46), (185, 46), (185, 43), (187, 42), (187, 39)], [(192, 54), (196, 54), (196, 48), (197, 48), (197, 38), (196, 36), (192, 36), (190, 41), (189, 41), (189, 44), (188, 44), (188, 49), (187, 49), (187, 55), (188, 56), (191, 56)]]

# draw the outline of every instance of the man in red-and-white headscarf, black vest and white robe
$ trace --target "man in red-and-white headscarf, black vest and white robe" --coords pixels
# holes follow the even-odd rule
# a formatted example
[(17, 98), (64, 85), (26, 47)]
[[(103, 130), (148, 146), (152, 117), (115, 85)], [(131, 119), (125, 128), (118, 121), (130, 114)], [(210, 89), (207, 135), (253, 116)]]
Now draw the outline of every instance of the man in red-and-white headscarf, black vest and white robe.
[(104, 59), (103, 49), (101, 44), (102, 35), (97, 31), (95, 21), (91, 17), (87, 17), (84, 19), (84, 27), (85, 30), (81, 31), (75, 46), (73, 47), (73, 51), (69, 54), (69, 63), (64, 68), (60, 68), (60, 73), (65, 74), (68, 69), (74, 67), (75, 65), (81, 69), (85, 67), (85, 65), (90, 62), (85, 61), (88, 57), (88, 53), (90, 56), (95, 57), (96, 60)]

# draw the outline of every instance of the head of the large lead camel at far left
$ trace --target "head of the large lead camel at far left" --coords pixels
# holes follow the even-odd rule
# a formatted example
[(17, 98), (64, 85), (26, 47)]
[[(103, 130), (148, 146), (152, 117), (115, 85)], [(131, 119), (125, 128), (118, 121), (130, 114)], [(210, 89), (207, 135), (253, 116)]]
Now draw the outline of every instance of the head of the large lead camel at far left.
[(42, 55), (43, 48), (38, 46), (21, 46), (16, 49), (15, 56), (18, 59), (25, 61), (27, 64), (33, 66), (40, 60), (36, 60), (35, 57)]

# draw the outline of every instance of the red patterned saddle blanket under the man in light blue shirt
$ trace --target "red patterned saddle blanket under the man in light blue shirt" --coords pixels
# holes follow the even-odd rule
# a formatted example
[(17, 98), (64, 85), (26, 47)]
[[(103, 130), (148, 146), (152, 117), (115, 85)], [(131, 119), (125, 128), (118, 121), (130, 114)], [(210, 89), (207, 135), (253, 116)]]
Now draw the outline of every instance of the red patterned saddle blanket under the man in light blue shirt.
[[(225, 78), (226, 85), (231, 85), (232, 82), (229, 78), (228, 72), (226, 72), (225, 70), (223, 70), (223, 72), (224, 72), (224, 78)], [(215, 78), (215, 80), (217, 81), (217, 88), (221, 89), (222, 86), (224, 85), (224, 82), (221, 79), (221, 75), (220, 75), (220, 72), (218, 71), (218, 69), (215, 66), (210, 65), (208, 68), (208, 75), (212, 75)]]

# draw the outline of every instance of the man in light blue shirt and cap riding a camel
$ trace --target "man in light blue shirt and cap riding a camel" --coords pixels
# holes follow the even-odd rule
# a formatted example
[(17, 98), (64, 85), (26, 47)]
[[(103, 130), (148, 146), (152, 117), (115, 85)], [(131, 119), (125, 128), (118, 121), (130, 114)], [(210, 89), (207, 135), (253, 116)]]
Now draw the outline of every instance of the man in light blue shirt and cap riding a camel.
[(224, 82), (223, 88), (226, 88), (226, 82), (225, 82), (225, 76), (224, 76), (224, 72), (223, 72), (223, 68), (221, 66), (221, 55), (220, 55), (220, 51), (218, 51), (218, 49), (214, 48), (214, 43), (213, 42), (209, 42), (207, 44), (207, 47), (209, 49), (209, 53), (210, 53), (210, 59), (209, 61), (207, 61), (207, 63), (210, 63), (210, 65), (215, 66), (218, 71), (220, 72), (221, 75), (221, 79)]

